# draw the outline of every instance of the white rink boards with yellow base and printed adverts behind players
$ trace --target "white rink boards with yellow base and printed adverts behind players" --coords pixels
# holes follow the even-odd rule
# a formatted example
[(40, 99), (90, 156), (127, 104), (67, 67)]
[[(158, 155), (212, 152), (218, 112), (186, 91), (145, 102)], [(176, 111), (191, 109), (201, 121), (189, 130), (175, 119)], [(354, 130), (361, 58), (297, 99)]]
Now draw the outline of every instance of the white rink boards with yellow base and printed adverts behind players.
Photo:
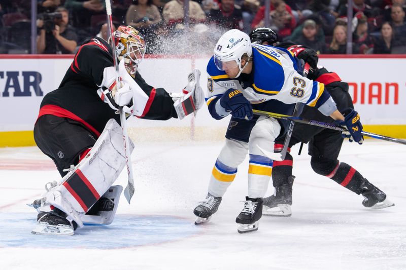
[[(41, 100), (56, 89), (73, 56), (0, 55), (0, 146), (34, 145), (33, 125)], [(202, 71), (207, 84), (207, 57), (147, 56), (139, 67), (146, 82), (155, 88), (180, 92), (192, 68)], [(319, 64), (337, 72), (349, 83), (349, 92), (361, 115), (364, 130), (391, 137), (406, 137), (406, 79), (402, 70), (406, 56), (323, 56)], [(228, 119), (216, 121), (202, 108), (195, 119), (147, 121), (132, 119), (134, 140), (221, 139)], [(165, 134), (164, 137), (160, 134)]]

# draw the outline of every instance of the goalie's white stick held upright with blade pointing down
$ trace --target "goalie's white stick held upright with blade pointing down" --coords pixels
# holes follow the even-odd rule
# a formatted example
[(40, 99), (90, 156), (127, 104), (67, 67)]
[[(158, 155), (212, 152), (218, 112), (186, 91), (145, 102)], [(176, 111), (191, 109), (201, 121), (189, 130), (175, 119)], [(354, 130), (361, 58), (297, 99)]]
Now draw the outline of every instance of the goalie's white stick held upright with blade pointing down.
[[(116, 69), (116, 84), (117, 87), (120, 86), (120, 77), (118, 75), (118, 64), (117, 64), (117, 56), (116, 56), (116, 48), (115, 48), (115, 41), (114, 41), (114, 31), (113, 31), (113, 20), (112, 20), (112, 12), (111, 12), (111, 3), (110, 0), (105, 0), (106, 2), (106, 12), (107, 12), (107, 22), (110, 31), (110, 37), (112, 41), (112, 51), (113, 51), (113, 63), (114, 68)], [(128, 204), (131, 201), (131, 197), (134, 194), (134, 176), (132, 173), (132, 163), (131, 163), (131, 153), (129, 150), (129, 141), (128, 141), (128, 134), (127, 134), (127, 125), (125, 120), (125, 113), (123, 111), (123, 107), (119, 107), (120, 112), (120, 123), (121, 123), (121, 130), (123, 132), (123, 143), (124, 143), (124, 151), (125, 151), (125, 162), (127, 167), (127, 174), (128, 174), (128, 183), (124, 189), (124, 197), (127, 199)]]

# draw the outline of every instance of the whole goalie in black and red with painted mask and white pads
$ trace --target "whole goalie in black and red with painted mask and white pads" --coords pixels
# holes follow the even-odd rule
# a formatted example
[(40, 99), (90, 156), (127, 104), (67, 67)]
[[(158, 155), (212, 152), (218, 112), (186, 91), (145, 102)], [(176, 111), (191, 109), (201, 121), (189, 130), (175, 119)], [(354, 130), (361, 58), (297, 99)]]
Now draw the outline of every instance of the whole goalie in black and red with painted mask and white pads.
[[(123, 147), (122, 134), (117, 139), (119, 132), (115, 131), (117, 123), (121, 124), (117, 113), (119, 107), (128, 116), (133, 114), (143, 119), (182, 119), (199, 109), (204, 101), (204, 93), (196, 83), (198, 78), (189, 82), (180, 93), (168, 93), (163, 88), (148, 85), (137, 71), (145, 54), (143, 37), (131, 26), (118, 27), (114, 37), (120, 62), (118, 74), (110, 44), (102, 38), (91, 37), (79, 48), (58, 89), (48, 93), (41, 103), (34, 127), (35, 141), (54, 161), (62, 177), (69, 171), (74, 170), (74, 174), (47, 188), (48, 195), (41, 199), (37, 209), (35, 233), (73, 234), (76, 225), (83, 226), (87, 220), (85, 213), (94, 210), (94, 207), (90, 209), (92, 205), (97, 205), (96, 201), (103, 198), (105, 192), (108, 194), (114, 189), (110, 185), (124, 168), (122, 157), (125, 155), (119, 149)], [(119, 87), (116, 85), (117, 75), (121, 78)], [(199, 72), (195, 71), (197, 75)], [(114, 136), (116, 139), (113, 140)], [(110, 142), (109, 146), (104, 144), (106, 141)], [(95, 143), (99, 148), (91, 150)], [(100, 157), (102, 152), (104, 156)], [(109, 158), (110, 164), (105, 161)], [(90, 168), (94, 159), (99, 159), (107, 170), (101, 165)], [(95, 172), (101, 172), (101, 175)], [(58, 195), (54, 196), (52, 192)], [(120, 192), (115, 194), (114, 209)], [(57, 197), (63, 200), (53, 201)], [(107, 205), (111, 202), (109, 198)], [(103, 211), (112, 210), (113, 207), (109, 207)], [(114, 213), (110, 215), (110, 223)], [(97, 222), (106, 224), (106, 220), (100, 220), (100, 215)]]

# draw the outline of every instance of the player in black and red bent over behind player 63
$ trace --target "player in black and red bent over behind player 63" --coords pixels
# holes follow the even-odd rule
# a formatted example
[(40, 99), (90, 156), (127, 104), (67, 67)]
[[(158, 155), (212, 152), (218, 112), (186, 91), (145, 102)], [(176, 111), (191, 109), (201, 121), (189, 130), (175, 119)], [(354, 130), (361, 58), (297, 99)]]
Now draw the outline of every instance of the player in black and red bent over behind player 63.
[[(266, 27), (254, 29), (250, 33), (250, 38), (253, 43), (286, 48), (299, 59), (309, 63), (311, 69), (308, 78), (324, 84), (325, 90), (328, 91), (335, 101), (337, 109), (343, 113), (343, 115), (354, 111), (354, 105), (348, 93), (348, 84), (342, 82), (337, 73), (329, 72), (326, 68), (317, 66), (318, 55), (313, 49), (295, 45), (291, 42), (279, 43), (278, 35), (272, 29)], [(331, 118), (325, 117), (317, 109), (309, 106), (304, 106), (300, 117), (325, 123), (333, 123)], [(331, 178), (356, 194), (361, 194), (365, 198), (362, 202), (365, 207), (384, 208), (394, 205), (386, 199), (386, 195), (382, 190), (369, 183), (369, 181), (353, 167), (337, 159), (343, 140), (343, 134), (339, 131), (296, 123), (288, 149), (290, 151), (290, 147), (299, 142), (309, 143), (312, 169), (318, 174)], [(275, 141), (275, 152), (282, 150), (284, 141), (285, 137)], [(275, 194), (264, 198), (264, 215), (291, 215), (292, 185), (295, 178), (295, 176), (292, 175), (292, 168), (293, 158), (289, 152), (286, 154), (284, 161), (274, 161), (272, 179)]]

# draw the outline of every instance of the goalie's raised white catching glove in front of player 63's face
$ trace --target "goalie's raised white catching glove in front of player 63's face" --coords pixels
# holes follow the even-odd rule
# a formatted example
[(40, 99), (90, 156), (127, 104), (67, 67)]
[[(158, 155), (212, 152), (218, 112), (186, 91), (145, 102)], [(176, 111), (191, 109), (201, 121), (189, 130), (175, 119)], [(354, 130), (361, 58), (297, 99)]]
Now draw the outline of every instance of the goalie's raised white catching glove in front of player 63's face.
[(193, 75), (189, 74), (189, 83), (181, 93), (170, 93), (179, 120), (197, 111), (205, 100), (205, 94), (199, 84), (200, 70), (195, 69), (193, 72)]

